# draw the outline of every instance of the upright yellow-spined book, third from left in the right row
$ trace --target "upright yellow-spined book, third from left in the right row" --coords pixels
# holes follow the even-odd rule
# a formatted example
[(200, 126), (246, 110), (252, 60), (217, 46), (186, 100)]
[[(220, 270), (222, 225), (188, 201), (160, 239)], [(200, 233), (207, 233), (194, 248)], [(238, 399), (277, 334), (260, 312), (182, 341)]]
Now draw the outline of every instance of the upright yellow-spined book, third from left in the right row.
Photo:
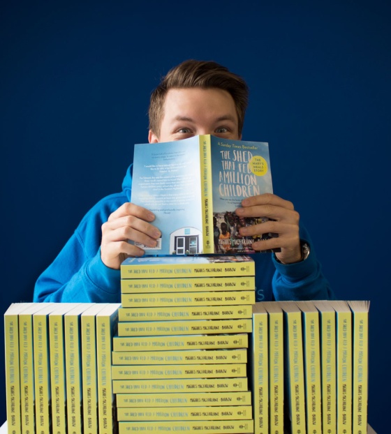
[(294, 301), (279, 301), (284, 313), (286, 401), (291, 433), (306, 433), (302, 313)]

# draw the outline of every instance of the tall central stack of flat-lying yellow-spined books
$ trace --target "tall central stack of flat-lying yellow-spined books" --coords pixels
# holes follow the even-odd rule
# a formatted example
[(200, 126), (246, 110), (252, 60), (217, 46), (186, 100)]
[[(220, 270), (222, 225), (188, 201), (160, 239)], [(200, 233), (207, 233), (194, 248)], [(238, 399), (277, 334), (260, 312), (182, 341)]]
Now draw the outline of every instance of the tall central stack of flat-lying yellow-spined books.
[(112, 379), (119, 433), (253, 433), (248, 256), (129, 258)]

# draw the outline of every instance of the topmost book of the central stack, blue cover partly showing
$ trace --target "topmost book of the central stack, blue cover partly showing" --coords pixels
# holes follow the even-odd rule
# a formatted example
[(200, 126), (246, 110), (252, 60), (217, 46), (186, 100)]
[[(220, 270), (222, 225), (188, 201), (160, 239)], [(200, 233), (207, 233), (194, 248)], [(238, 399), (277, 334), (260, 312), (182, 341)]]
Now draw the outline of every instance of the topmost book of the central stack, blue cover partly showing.
[(255, 276), (249, 255), (128, 257), (121, 263), (121, 279)]

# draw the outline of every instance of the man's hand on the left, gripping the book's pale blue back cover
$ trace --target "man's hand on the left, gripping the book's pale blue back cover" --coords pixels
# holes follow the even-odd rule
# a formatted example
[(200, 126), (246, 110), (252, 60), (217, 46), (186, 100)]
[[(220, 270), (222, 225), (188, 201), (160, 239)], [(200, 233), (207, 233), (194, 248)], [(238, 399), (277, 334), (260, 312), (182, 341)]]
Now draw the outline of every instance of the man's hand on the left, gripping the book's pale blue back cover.
[(101, 259), (106, 267), (119, 269), (128, 256), (142, 256), (144, 250), (128, 240), (155, 247), (161, 232), (151, 225), (155, 216), (151, 211), (126, 202), (110, 214), (102, 225)]

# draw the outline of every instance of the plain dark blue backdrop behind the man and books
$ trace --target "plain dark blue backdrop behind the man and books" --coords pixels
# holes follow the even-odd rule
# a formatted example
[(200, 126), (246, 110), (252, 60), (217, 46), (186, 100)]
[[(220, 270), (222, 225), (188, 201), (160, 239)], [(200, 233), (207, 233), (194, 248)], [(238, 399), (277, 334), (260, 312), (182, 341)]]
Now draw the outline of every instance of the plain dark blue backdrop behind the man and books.
[[(3, 3), (1, 312), (31, 301), (84, 213), (121, 188), (161, 75), (212, 59), (249, 83), (244, 139), (270, 142), (275, 193), (300, 211), (337, 297), (371, 300), (369, 422), (385, 432), (390, 12), (378, 0)], [(3, 359), (1, 345), (2, 372)]]

